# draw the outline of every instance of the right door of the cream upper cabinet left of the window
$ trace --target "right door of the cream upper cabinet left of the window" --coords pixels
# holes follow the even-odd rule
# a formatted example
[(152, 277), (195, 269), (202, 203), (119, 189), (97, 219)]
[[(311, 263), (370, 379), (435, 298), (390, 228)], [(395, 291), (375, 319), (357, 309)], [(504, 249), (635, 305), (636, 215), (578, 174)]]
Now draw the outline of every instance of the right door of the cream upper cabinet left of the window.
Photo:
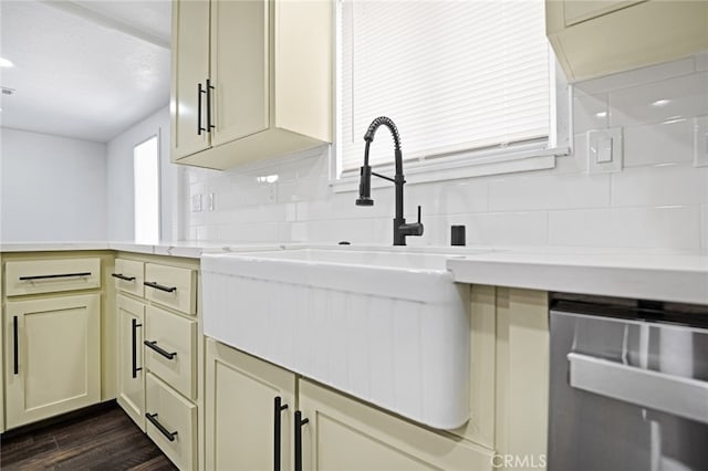
[(269, 127), (269, 2), (211, 2), (211, 144)]

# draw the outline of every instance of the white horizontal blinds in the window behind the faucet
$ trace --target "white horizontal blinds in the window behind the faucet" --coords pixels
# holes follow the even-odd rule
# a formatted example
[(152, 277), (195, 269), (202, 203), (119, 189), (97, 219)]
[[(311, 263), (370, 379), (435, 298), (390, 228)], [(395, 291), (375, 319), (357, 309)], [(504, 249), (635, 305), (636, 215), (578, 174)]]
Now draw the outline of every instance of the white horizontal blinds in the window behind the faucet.
[[(543, 0), (342, 0), (340, 22), (340, 171), (381, 115), (406, 159), (549, 135)], [(393, 160), (387, 134), (373, 165)]]

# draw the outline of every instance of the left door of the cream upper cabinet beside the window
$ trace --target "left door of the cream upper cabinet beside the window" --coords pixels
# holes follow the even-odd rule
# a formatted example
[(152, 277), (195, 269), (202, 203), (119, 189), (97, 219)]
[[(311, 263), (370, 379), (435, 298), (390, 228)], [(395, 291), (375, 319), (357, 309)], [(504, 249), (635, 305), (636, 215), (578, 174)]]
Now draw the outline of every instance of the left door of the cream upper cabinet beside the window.
[[(171, 60), (170, 115), (173, 160), (176, 160), (209, 147), (209, 133), (206, 130), (209, 0), (173, 2)], [(199, 85), (205, 93), (199, 93)], [(199, 132), (199, 127), (205, 130)]]

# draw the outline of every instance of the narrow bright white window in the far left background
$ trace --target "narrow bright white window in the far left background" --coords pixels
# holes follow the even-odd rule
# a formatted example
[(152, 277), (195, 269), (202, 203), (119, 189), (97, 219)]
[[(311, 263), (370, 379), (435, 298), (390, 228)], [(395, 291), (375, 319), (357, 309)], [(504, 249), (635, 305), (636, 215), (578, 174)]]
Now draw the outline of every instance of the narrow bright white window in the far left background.
[(133, 148), (135, 241), (159, 241), (159, 143), (153, 136)]

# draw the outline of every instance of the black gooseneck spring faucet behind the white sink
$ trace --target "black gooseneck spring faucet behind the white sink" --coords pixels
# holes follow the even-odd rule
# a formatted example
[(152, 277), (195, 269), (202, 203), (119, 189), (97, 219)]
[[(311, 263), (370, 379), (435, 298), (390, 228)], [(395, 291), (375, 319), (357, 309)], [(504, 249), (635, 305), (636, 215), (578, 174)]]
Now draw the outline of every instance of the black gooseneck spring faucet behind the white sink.
[[(386, 126), (394, 137), (394, 155), (396, 159), (396, 175), (394, 178), (386, 177), (384, 175), (372, 171), (368, 165), (368, 148), (374, 142), (374, 135), (379, 126)], [(420, 223), (420, 206), (418, 206), (418, 222), (410, 224), (406, 223), (406, 219), (403, 217), (403, 186), (406, 179), (403, 176), (403, 153), (400, 151), (400, 137), (398, 136), (398, 129), (391, 118), (386, 116), (379, 116), (368, 125), (366, 134), (364, 134), (364, 140), (366, 147), (364, 148), (364, 166), (361, 170), (361, 179), (358, 182), (358, 199), (357, 206), (374, 206), (374, 200), (371, 198), (372, 192), (372, 175), (383, 178), (384, 180), (393, 181), (396, 186), (396, 217), (394, 218), (394, 245), (405, 245), (407, 236), (423, 236), (423, 224)]]

